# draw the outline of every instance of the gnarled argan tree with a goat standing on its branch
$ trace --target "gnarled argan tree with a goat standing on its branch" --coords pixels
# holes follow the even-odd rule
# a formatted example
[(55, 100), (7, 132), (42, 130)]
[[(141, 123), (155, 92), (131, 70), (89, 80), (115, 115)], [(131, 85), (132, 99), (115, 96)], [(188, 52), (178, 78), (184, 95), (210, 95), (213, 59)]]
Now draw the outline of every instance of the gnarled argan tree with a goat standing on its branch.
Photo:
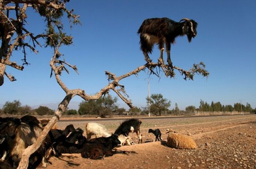
[[(108, 94), (109, 91), (112, 90), (132, 108), (132, 102), (128, 100), (124, 85), (120, 84), (120, 81), (131, 75), (137, 75), (142, 70), (147, 69), (149, 75), (154, 74), (156, 76), (159, 76), (160, 72), (164, 72), (164, 74), (170, 78), (174, 78), (175, 71), (178, 71), (185, 80), (193, 80), (195, 74), (208, 76), (208, 72), (204, 69), (205, 66), (202, 62), (194, 64), (188, 71), (177, 66), (170, 68), (163, 62), (151, 62), (139, 66), (121, 76), (116, 76), (112, 72), (105, 71), (109, 83), (102, 89), (99, 89), (98, 93), (94, 95), (88, 95), (86, 90), (83, 89), (69, 89), (61, 80), (60, 75), (63, 71), (69, 73), (68, 67), (76, 72), (78, 72), (78, 69), (75, 65), (65, 62), (64, 56), (60, 51), (61, 46), (72, 44), (72, 36), (67, 35), (63, 30), (63, 19), (67, 17), (71, 25), (79, 24), (80, 22), (78, 20), (79, 16), (74, 14), (74, 10), (68, 10), (66, 8), (65, 4), (68, 3), (68, 1), (69, 0), (0, 0), (0, 86), (4, 83), (4, 76), (11, 81), (16, 80), (14, 76), (8, 74), (6, 66), (23, 70), (24, 65), (29, 64), (27, 50), (37, 53), (38, 51), (36, 49), (38, 47), (45, 46), (52, 48), (54, 53), (50, 61), (52, 70), (50, 75), (55, 77), (61, 89), (66, 93), (52, 119), (49, 121), (48, 125), (45, 126), (37, 141), (23, 151), (22, 159), (18, 166), (19, 169), (27, 168), (30, 155), (39, 148), (49, 130), (61, 118), (61, 115), (67, 110), (69, 102), (76, 95), (83, 98), (85, 101), (91, 101), (101, 98), (102, 95)], [(33, 33), (35, 30), (28, 29), (26, 22), (26, 18), (29, 17), (27, 15), (28, 8), (34, 9), (39, 16), (44, 18), (46, 26), (45, 32), (42, 34), (35, 35)], [(12, 13), (12, 15), (10, 15), (10, 13)], [(15, 17), (11, 18), (10, 16)], [(39, 38), (43, 38), (45, 44), (39, 43), (41, 42), (38, 40)], [(20, 58), (13, 54), (14, 51), (20, 51), (20, 54), (23, 55), (22, 65), (17, 64), (16, 61)]]

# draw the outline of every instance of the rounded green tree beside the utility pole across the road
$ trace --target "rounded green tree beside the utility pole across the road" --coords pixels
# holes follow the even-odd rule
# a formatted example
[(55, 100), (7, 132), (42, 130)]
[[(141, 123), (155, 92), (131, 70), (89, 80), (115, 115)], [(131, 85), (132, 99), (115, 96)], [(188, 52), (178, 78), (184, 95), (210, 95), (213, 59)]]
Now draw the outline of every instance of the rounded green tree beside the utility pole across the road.
[(150, 103), (150, 112), (160, 116), (162, 112), (168, 110), (171, 105), (171, 101), (163, 98), (162, 94), (152, 94), (150, 97), (146, 98), (147, 103)]

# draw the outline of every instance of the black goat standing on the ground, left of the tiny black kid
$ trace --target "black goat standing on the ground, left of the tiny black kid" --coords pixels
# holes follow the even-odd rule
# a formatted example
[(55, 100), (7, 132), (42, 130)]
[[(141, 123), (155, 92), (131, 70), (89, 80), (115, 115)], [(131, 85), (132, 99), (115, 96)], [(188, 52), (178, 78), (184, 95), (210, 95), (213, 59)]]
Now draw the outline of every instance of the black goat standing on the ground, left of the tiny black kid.
[(123, 134), (124, 136), (128, 136), (129, 133), (135, 132), (139, 137), (139, 144), (142, 143), (142, 135), (140, 134), (140, 124), (142, 121), (140, 119), (129, 119), (123, 121), (120, 126), (116, 129), (114, 134), (120, 135)]

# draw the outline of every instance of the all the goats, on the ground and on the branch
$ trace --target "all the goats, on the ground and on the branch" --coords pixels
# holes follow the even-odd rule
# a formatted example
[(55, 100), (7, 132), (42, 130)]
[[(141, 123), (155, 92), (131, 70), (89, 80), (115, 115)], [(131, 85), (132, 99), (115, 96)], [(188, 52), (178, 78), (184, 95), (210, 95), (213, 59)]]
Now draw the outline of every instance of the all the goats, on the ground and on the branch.
[[(171, 44), (177, 36), (187, 35), (188, 41), (197, 35), (197, 23), (187, 18), (179, 22), (168, 18), (151, 18), (143, 21), (138, 30), (140, 34), (140, 49), (143, 51), (145, 60), (149, 63), (151, 59), (148, 53), (152, 52), (154, 44), (158, 44), (161, 51), (159, 61), (163, 62), (164, 46), (167, 52), (167, 63), (173, 67), (170, 59)], [(164, 45), (165, 44), (165, 45)], [(47, 122), (46, 122), (47, 123)], [(114, 153), (125, 153), (113, 151), (118, 145), (133, 144), (129, 133), (135, 132), (142, 143), (139, 119), (129, 119), (120, 124), (114, 134), (109, 133), (105, 126), (98, 123), (87, 123), (86, 137), (83, 130), (75, 129), (68, 125), (64, 130), (51, 129), (40, 148), (34, 152), (29, 159), (29, 168), (36, 168), (41, 162), (46, 167), (49, 157), (61, 156), (61, 153), (81, 153), (83, 158), (102, 159), (113, 156)], [(0, 169), (17, 168), (24, 149), (34, 144), (40, 135), (45, 122), (36, 117), (26, 115), (22, 118), (0, 117)], [(155, 141), (161, 140), (159, 129), (148, 131), (153, 133)], [(96, 138), (91, 138), (95, 135)]]

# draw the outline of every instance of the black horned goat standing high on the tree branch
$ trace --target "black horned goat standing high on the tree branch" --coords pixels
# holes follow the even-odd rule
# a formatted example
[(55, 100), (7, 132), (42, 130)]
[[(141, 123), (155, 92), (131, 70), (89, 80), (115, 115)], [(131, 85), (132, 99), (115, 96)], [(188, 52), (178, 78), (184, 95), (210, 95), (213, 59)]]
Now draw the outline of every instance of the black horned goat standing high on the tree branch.
[[(184, 21), (184, 22), (181, 22)], [(152, 52), (155, 43), (161, 51), (159, 61), (163, 62), (164, 43), (167, 52), (167, 63), (172, 67), (170, 58), (171, 43), (175, 42), (177, 36), (187, 35), (188, 42), (195, 38), (197, 23), (194, 20), (183, 18), (180, 22), (173, 21), (169, 18), (151, 18), (143, 21), (138, 30), (140, 34), (140, 49), (143, 51), (145, 60), (151, 62), (148, 52)]]

